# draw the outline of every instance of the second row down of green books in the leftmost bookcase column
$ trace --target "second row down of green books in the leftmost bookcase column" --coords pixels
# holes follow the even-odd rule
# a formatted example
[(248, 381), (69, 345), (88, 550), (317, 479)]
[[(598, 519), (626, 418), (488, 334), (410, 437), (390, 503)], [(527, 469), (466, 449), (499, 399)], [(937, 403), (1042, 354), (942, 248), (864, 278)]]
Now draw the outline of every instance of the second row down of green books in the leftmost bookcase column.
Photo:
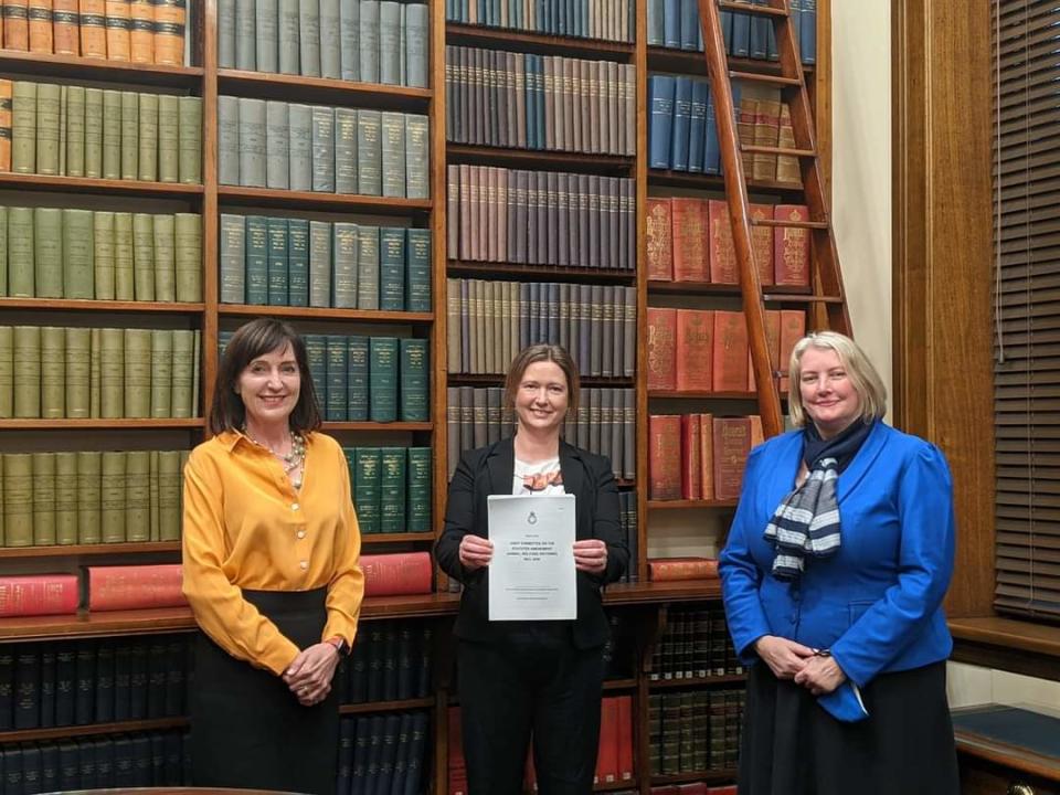
[(201, 301), (202, 218), (0, 206), (0, 296)]

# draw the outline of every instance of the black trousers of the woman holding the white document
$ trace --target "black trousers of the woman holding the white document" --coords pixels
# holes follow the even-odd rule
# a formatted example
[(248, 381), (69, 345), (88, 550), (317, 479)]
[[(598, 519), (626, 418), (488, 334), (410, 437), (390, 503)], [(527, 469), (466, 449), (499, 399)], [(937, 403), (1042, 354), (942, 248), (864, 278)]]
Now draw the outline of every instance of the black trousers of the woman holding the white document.
[(460, 640), (457, 666), (469, 795), (521, 795), (531, 738), (541, 795), (592, 793), (603, 647), (577, 649), (569, 627), (542, 623)]

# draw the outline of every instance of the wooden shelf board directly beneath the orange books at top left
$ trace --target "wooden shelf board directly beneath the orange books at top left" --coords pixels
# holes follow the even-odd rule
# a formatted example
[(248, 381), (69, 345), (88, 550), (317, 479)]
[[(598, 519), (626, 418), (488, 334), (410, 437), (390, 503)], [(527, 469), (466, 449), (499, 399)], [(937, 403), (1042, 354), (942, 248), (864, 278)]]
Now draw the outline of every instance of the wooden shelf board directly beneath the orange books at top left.
[[(202, 84), (201, 66), (162, 66), (156, 64), (83, 59), (75, 55), (15, 52), (0, 50), (0, 72), (12, 76), (56, 80), (91, 80), (135, 83), (163, 88), (198, 88)], [(192, 92), (197, 93), (197, 92)]]

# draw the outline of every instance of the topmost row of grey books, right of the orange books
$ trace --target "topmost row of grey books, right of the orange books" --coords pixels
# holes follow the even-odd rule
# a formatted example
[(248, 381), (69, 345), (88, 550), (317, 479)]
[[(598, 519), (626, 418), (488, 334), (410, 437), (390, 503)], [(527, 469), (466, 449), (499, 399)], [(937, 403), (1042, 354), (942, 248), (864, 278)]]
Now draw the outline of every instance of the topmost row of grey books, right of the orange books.
[(391, 0), (220, 0), (218, 66), (427, 87), (430, 10)]

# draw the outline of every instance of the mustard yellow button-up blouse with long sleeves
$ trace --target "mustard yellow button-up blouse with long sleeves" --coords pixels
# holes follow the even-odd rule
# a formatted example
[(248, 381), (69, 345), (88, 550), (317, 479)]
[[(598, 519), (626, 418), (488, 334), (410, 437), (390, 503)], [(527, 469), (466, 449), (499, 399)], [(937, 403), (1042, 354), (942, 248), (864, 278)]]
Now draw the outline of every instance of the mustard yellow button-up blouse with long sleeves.
[(199, 626), (237, 659), (279, 676), (299, 648), (243, 598), (252, 591), (327, 587), (320, 638), (357, 634), (364, 595), (361, 534), (342, 448), (306, 438), (303, 486), (279, 462), (230, 431), (195, 447), (184, 467), (184, 595)]

